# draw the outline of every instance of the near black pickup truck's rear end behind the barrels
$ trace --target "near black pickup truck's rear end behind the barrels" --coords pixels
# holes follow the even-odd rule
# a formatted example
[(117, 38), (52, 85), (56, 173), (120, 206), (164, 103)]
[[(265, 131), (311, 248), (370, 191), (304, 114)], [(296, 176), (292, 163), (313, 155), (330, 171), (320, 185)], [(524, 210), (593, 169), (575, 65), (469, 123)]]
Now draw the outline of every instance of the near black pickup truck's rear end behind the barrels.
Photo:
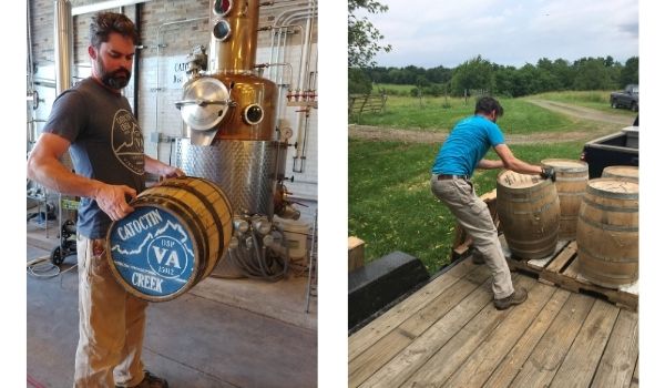
[(584, 144), (580, 160), (589, 164), (589, 178), (601, 177), (608, 165), (640, 165), (638, 126), (592, 140)]

